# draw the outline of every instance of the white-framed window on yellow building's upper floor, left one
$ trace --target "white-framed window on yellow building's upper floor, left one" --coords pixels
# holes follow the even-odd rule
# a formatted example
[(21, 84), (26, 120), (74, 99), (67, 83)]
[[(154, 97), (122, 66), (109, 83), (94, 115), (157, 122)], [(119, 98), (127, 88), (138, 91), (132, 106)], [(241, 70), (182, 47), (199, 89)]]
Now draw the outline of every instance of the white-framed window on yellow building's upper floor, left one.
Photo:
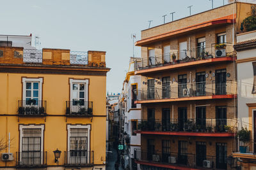
[(22, 78), (23, 96), (22, 105), (42, 105), (43, 78)]

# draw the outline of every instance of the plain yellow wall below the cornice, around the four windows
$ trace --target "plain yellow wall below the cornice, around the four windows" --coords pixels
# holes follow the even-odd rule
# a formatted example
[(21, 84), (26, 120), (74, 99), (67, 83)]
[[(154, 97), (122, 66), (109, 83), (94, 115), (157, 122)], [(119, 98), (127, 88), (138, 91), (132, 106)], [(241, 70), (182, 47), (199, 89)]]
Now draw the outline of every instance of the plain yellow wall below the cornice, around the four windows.
[[(45, 117), (0, 116), (0, 139), (7, 139), (7, 134), (10, 132), (11, 138), (13, 138), (10, 152), (13, 153), (14, 157), (16, 157), (15, 153), (19, 151), (19, 124), (45, 124), (44, 152), (47, 152), (47, 165), (56, 165), (53, 153), (56, 148), (62, 152), (59, 165), (64, 164), (64, 151), (67, 151), (67, 124), (92, 124), (90, 150), (94, 151), (94, 163), (104, 164), (106, 157), (106, 117), (66, 118), (58, 115), (65, 115), (65, 101), (70, 100), (68, 78), (88, 78), (88, 98), (89, 101), (93, 101), (93, 115), (106, 115), (106, 76), (0, 73), (0, 115), (17, 114), (18, 101), (22, 100), (22, 76), (44, 78), (42, 100), (47, 102), (47, 115), (56, 116), (46, 117), (46, 119)], [(8, 150), (2, 152), (8, 152)], [(15, 160), (7, 162), (6, 165), (15, 166)], [(5, 166), (5, 162), (1, 159), (0, 166)]]

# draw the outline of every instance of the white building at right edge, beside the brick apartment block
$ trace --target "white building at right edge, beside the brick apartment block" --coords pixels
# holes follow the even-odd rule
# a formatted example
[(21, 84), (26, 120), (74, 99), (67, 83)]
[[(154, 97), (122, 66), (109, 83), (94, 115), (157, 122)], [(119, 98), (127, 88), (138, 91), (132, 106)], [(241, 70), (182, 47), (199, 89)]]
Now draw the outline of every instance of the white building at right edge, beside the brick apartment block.
[[(241, 159), (243, 167), (256, 169), (256, 31), (237, 34), (234, 48), (237, 51), (238, 130), (241, 130), (241, 127), (250, 130), (252, 141), (238, 142), (233, 156)], [(242, 145), (247, 147), (246, 150), (241, 150)]]

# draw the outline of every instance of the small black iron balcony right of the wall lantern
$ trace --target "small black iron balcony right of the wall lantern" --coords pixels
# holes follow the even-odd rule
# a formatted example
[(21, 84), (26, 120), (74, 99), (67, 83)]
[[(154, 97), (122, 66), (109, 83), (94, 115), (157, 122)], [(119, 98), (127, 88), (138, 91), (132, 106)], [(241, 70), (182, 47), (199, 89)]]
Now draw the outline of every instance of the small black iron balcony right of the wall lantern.
[(65, 166), (92, 166), (93, 163), (93, 151), (72, 150), (65, 152)]

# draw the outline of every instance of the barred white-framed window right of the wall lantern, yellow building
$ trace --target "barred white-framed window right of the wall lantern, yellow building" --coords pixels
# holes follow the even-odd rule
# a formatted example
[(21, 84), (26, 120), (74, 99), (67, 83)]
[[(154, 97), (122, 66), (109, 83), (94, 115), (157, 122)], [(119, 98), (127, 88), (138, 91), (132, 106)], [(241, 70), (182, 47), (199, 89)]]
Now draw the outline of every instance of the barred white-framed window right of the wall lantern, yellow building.
[(90, 125), (68, 125), (68, 164), (91, 163)]

